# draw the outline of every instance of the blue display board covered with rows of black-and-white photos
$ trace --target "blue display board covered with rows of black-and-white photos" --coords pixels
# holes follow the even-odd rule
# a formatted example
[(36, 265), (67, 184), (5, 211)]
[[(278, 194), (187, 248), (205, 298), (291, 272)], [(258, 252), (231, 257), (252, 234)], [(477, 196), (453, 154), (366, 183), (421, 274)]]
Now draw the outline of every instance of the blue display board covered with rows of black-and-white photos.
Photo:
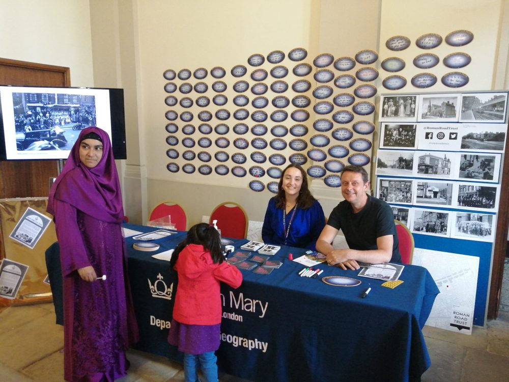
[(373, 186), (415, 247), (479, 257), (486, 311), (507, 135), (507, 92), (382, 94)]

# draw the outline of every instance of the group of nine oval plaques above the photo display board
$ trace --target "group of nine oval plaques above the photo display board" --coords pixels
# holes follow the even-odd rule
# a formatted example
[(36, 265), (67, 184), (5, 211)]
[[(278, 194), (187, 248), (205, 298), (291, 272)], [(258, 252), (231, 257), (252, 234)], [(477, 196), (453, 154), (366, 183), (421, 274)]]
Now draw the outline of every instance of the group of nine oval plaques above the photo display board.
[[(445, 42), (454, 47), (460, 47), (472, 42), (474, 36), (470, 31), (454, 31), (445, 37)], [(436, 48), (442, 44), (444, 39), (436, 33), (428, 33), (418, 37), (415, 45), (421, 49), (429, 50)], [(411, 41), (405, 36), (393, 36), (385, 42), (387, 49), (392, 51), (402, 51), (411, 46)], [(470, 64), (472, 58), (469, 54), (464, 52), (453, 52), (447, 54), (442, 60), (444, 66), (450, 69), (461, 69)], [(429, 70), (440, 63), (440, 58), (437, 54), (426, 51), (418, 54), (412, 61), (416, 68)], [(383, 70), (396, 73), (403, 70), (406, 63), (399, 57), (389, 57), (382, 61), (381, 67)], [(433, 73), (423, 72), (416, 74), (410, 80), (410, 83), (420, 89), (429, 88), (437, 83), (437, 76)], [(442, 76), (442, 84), (449, 88), (460, 88), (468, 84), (469, 78), (465, 73), (453, 71), (446, 73)], [(389, 90), (399, 90), (407, 85), (405, 77), (393, 74), (389, 75), (382, 81), (384, 88)]]

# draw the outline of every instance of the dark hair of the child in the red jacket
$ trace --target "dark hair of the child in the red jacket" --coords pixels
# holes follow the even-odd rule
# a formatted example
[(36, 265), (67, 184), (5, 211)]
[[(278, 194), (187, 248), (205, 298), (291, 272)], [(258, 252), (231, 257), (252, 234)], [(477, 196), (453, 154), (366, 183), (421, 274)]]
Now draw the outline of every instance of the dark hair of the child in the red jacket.
[(172, 260), (169, 262), (169, 265), (173, 268), (177, 263), (180, 252), (186, 247), (187, 244), (198, 244), (203, 245), (203, 248), (206, 251), (210, 252), (210, 256), (212, 257), (212, 261), (214, 263), (222, 263), (224, 261), (224, 257), (221, 250), (221, 237), (219, 236), (219, 232), (214, 228), (214, 226), (207, 223), (199, 223), (192, 226), (189, 231), (187, 231), (187, 237), (185, 240), (181, 241), (175, 251), (173, 251)]

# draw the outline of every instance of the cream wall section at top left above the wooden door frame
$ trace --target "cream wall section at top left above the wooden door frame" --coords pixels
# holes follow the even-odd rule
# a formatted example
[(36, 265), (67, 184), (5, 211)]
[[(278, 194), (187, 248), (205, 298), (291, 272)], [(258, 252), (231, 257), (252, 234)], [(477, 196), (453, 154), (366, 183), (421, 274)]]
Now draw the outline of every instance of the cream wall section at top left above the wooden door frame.
[(71, 68), (71, 85), (92, 87), (89, 0), (0, 0), (0, 57)]

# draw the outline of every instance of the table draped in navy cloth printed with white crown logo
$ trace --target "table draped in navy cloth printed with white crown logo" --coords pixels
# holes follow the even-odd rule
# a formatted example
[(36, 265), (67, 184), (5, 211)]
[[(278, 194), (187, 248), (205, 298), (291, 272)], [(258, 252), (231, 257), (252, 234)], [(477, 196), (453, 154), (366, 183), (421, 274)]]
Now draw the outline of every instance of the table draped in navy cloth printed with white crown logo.
[[(153, 227), (126, 224), (140, 232)], [(166, 341), (177, 273), (152, 255), (173, 249), (186, 236), (177, 232), (154, 240), (154, 252), (129, 249), (129, 280), (140, 342), (136, 348), (182, 361)], [(236, 249), (247, 240), (232, 240)], [(358, 277), (359, 270), (320, 265), (318, 278), (299, 277), (303, 265), (288, 259), (303, 249), (282, 247), (271, 259), (282, 261), (269, 275), (242, 270), (238, 289), (221, 286), (223, 319), (219, 369), (255, 381), (407, 381), (419, 380), (431, 361), (421, 329), (438, 288), (426, 268), (405, 265), (398, 287)], [(361, 281), (355, 287), (332, 286), (326, 276)], [(362, 293), (371, 292), (362, 298)]]

